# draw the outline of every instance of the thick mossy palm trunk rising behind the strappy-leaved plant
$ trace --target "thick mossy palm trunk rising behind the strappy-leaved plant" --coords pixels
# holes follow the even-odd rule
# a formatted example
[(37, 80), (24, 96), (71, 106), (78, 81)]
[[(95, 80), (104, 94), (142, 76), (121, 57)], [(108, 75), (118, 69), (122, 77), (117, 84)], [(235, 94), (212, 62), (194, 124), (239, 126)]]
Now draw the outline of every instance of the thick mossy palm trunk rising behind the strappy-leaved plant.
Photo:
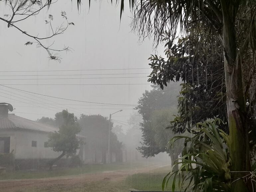
[[(230, 1), (222, 0), (224, 67), (227, 90), (227, 118), (230, 137), (231, 171), (250, 171), (248, 128), (245, 115), (245, 98), (242, 81), (241, 60), (237, 59), (235, 36), (236, 7)], [(232, 178), (240, 178), (248, 173), (233, 172)], [(251, 182), (240, 179), (232, 183), (232, 192), (252, 191)]]

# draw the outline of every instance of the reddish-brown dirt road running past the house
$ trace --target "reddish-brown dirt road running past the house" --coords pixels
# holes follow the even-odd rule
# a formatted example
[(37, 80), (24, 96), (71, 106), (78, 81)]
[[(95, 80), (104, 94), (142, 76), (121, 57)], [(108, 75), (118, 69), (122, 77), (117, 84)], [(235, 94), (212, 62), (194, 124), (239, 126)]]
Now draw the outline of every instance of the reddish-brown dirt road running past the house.
[(22, 191), (70, 191), (86, 183), (94, 181), (120, 181), (129, 175), (149, 172), (161, 166), (146, 166), (129, 170), (105, 171), (94, 174), (70, 175), (43, 179), (19, 179), (0, 181), (1, 192)]

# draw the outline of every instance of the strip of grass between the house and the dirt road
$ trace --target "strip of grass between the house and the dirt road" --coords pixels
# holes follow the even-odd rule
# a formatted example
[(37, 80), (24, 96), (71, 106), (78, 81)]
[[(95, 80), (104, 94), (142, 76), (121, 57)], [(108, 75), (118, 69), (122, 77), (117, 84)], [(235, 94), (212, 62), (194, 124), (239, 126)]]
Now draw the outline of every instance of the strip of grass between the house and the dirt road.
[(38, 179), (47, 177), (58, 177), (58, 176), (68, 176), (68, 175), (79, 175), (79, 174), (89, 174), (103, 171), (112, 170), (125, 170), (130, 168), (140, 167), (143, 164), (141, 162), (132, 163), (115, 163), (115, 164), (87, 164), (83, 167), (76, 168), (59, 168), (53, 171), (13, 171), (7, 172), (0, 175), (0, 180), (9, 179)]

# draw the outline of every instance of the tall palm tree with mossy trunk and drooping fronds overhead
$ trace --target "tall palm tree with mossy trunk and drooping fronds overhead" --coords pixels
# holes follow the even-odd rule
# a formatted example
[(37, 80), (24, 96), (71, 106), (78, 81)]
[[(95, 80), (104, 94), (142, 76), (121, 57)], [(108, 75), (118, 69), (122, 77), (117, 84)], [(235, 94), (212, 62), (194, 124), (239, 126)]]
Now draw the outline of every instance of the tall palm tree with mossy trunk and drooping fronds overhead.
[[(80, 3), (81, 0), (77, 0), (78, 6)], [(120, 4), (121, 17), (124, 0), (121, 0)], [(142, 37), (153, 34), (157, 44), (164, 31), (170, 31), (174, 39), (177, 37), (177, 32), (185, 34), (189, 28), (198, 27), (199, 25), (196, 24), (199, 23), (210, 23), (211, 26), (206, 26), (204, 32), (216, 33), (221, 39), (224, 49), (230, 156), (234, 171), (232, 177), (243, 177), (245, 173), (238, 171), (251, 171), (251, 164), (244, 99), (245, 87), (248, 85), (243, 85), (242, 63), (248, 52), (255, 57), (256, 1), (129, 0), (129, 4), (133, 12), (133, 29), (138, 30)], [(232, 191), (250, 191), (252, 186), (248, 185), (250, 184), (240, 179), (232, 184)]]

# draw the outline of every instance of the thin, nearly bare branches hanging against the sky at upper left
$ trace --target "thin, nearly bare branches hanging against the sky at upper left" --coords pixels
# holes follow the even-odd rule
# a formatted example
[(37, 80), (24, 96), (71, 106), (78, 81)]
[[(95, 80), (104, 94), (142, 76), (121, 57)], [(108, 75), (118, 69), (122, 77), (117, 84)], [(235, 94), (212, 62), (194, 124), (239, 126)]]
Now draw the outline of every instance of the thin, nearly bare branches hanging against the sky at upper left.
[[(57, 0), (52, 3), (56, 2)], [(28, 20), (32, 16), (38, 15), (43, 9), (47, 10), (48, 0), (0, 0), (0, 5), (1, 4), (5, 8), (3, 15), (0, 16), (0, 21), (5, 22), (8, 28), (13, 27), (32, 40), (27, 41), (25, 43), (25, 46), (36, 44), (37, 47), (44, 48), (47, 51), (50, 59), (57, 61), (60, 61), (61, 59), (58, 52), (70, 51), (69, 47), (64, 46), (64, 48), (56, 49), (52, 48), (54, 42), (50, 43), (49, 45), (47, 45), (47, 43), (45, 42), (46, 40), (52, 39), (55, 36), (63, 34), (67, 30), (69, 25), (74, 25), (73, 22), (68, 21), (65, 11), (61, 12), (61, 16), (64, 19), (64, 22), (58, 27), (53, 26), (53, 15), (50, 14), (48, 16), (48, 18), (45, 20), (45, 24), (50, 25), (51, 34), (46, 37), (41, 37), (39, 36), (39, 34), (33, 35), (28, 31), (25, 31), (17, 24), (20, 23), (21, 21)]]

